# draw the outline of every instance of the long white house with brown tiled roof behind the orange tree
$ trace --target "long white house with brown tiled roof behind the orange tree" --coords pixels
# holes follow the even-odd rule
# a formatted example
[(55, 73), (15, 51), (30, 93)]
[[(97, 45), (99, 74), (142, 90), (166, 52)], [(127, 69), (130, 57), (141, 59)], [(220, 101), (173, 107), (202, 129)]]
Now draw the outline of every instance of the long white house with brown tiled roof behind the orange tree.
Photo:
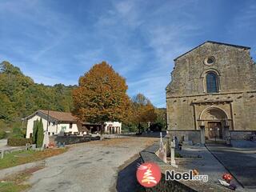
[[(37, 110), (34, 114), (30, 114), (24, 118), (27, 121), (26, 138), (31, 138), (33, 135), (34, 122), (42, 118), (43, 129), (48, 128), (49, 135), (59, 134), (61, 131), (66, 134), (92, 134), (99, 133), (100, 124), (90, 122), (78, 122), (71, 113), (59, 112), (53, 110)], [(48, 127), (47, 127), (48, 122)], [(104, 133), (120, 134), (122, 130), (121, 122), (105, 122)]]

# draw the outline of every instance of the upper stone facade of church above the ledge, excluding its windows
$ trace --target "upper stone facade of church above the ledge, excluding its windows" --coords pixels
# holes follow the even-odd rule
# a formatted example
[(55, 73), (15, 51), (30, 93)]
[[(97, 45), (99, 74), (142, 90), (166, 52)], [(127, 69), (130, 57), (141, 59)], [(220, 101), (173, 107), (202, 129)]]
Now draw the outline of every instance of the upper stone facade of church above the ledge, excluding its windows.
[[(210, 56), (215, 62), (206, 65), (204, 60)], [(256, 90), (256, 66), (250, 50), (244, 47), (206, 42), (174, 62), (172, 81), (166, 87), (167, 98), (204, 93), (203, 74), (207, 70), (220, 75), (221, 92)]]

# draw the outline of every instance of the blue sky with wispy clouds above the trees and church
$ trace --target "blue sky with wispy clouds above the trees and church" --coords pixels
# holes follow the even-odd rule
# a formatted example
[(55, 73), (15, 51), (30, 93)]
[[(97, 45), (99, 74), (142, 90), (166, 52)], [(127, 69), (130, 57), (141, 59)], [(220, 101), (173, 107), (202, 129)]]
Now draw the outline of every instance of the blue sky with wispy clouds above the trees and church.
[(130, 96), (158, 107), (178, 55), (211, 40), (250, 46), (255, 58), (255, 36), (254, 0), (0, 0), (0, 61), (46, 85), (77, 84), (106, 61)]

